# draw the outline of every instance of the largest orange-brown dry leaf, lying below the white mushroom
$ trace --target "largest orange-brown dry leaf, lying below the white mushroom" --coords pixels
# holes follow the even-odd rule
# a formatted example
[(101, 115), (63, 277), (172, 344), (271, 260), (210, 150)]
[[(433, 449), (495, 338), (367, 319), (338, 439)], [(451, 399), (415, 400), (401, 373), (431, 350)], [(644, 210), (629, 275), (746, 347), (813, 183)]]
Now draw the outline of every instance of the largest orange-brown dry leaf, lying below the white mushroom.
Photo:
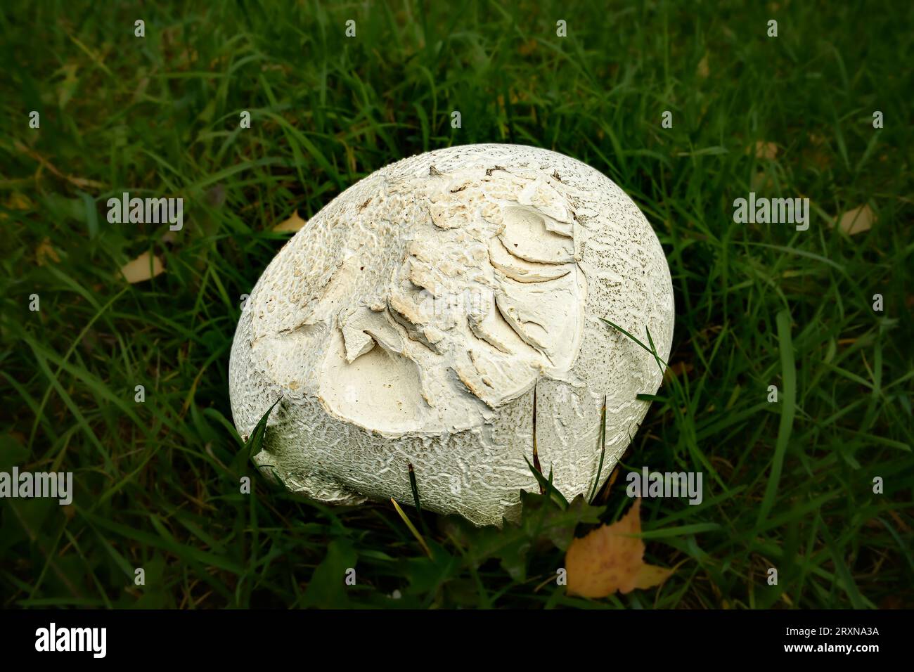
[(573, 539), (565, 554), (569, 594), (606, 597), (635, 588), (652, 588), (673, 573), (644, 564), (641, 534), (641, 499), (612, 525), (602, 525), (586, 537)]

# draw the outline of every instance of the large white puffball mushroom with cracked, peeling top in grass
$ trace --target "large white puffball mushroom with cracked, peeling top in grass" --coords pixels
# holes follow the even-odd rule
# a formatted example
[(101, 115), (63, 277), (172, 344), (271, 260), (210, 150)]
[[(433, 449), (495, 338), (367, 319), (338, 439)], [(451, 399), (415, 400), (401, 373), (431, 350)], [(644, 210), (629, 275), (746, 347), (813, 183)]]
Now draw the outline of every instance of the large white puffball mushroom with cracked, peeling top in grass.
[[(346, 189), (282, 248), (242, 311), (231, 407), (261, 472), (329, 503), (394, 497), (477, 525), (610, 475), (662, 374), (673, 287), (641, 211), (569, 156), (471, 144)], [(606, 404), (600, 475), (600, 418)], [(534, 404), (536, 403), (536, 413)]]

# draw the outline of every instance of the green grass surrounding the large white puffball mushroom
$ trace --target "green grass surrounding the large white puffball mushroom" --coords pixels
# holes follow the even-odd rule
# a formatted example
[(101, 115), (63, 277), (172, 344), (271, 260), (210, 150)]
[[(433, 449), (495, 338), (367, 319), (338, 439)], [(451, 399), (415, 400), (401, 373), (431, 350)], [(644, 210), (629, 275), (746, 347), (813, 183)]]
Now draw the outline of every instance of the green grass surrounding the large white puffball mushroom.
[[(76, 494), (0, 500), (0, 603), (914, 605), (912, 18), (900, 0), (4, 3), (0, 470), (72, 470)], [(758, 141), (778, 154), (747, 153)], [(241, 295), (288, 238), (273, 224), (474, 142), (575, 156), (632, 196), (667, 254), (669, 361), (688, 370), (598, 506), (531, 494), (523, 524), (497, 532), (401, 502), (427, 552), (389, 502), (324, 507), (256, 475), (231, 428), (228, 348)], [(185, 228), (109, 224), (124, 190), (184, 197)], [(809, 197), (810, 229), (735, 224), (750, 190)], [(871, 230), (828, 227), (863, 204)], [(43, 240), (58, 261), (38, 263)], [(143, 251), (165, 273), (124, 283)], [(566, 596), (570, 535), (619, 517), (624, 472), (643, 464), (705, 474), (700, 506), (644, 502), (646, 560), (674, 576)]]

